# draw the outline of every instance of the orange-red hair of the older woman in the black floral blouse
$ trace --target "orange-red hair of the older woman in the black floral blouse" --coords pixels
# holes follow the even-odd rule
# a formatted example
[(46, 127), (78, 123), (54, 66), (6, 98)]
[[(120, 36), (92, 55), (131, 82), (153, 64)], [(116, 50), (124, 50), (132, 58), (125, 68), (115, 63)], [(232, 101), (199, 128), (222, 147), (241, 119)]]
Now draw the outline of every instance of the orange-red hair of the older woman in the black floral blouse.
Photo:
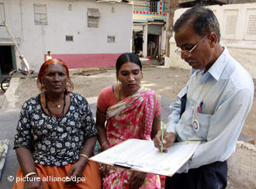
[(37, 75), (37, 81), (36, 81), (37, 82), (37, 87), (40, 89), (40, 91), (43, 91), (43, 75), (46, 73), (47, 67), (50, 64), (61, 64), (64, 67), (64, 69), (66, 71), (66, 74), (67, 74), (67, 90), (68, 91), (73, 90), (74, 89), (74, 84), (71, 81), (71, 78), (69, 77), (69, 71), (68, 71), (68, 68), (67, 68), (67, 64), (65, 64), (64, 61), (62, 61), (61, 59), (56, 58), (56, 59), (47, 60), (40, 67), (40, 70), (39, 70), (38, 75)]

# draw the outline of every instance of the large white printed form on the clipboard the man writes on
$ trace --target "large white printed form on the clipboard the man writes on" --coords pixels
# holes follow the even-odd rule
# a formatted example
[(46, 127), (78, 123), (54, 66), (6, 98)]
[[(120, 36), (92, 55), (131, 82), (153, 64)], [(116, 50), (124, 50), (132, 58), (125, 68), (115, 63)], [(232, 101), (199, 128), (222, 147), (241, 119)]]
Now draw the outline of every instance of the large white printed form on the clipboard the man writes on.
[(161, 153), (154, 147), (153, 141), (127, 139), (89, 159), (112, 166), (171, 177), (189, 160), (199, 143), (199, 141), (175, 143), (168, 148), (168, 153)]

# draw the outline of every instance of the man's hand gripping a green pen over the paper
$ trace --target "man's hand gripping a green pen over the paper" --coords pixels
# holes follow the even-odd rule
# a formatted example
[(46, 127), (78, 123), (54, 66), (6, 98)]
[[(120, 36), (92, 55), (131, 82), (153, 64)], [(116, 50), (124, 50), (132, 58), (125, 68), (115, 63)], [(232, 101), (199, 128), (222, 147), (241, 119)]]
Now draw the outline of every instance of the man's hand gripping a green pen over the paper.
[(164, 132), (164, 139), (163, 142), (161, 142), (161, 130), (157, 132), (157, 135), (154, 137), (154, 146), (161, 150), (161, 145), (163, 144), (163, 152), (168, 152), (168, 147), (172, 146), (173, 143), (175, 143), (176, 135), (174, 132)]

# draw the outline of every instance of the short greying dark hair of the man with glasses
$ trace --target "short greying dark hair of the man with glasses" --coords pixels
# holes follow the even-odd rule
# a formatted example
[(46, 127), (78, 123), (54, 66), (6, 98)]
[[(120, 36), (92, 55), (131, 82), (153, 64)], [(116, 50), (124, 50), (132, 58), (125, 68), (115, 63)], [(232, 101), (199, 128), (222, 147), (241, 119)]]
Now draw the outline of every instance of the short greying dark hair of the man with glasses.
[(199, 36), (216, 33), (217, 41), (220, 42), (220, 24), (212, 10), (199, 5), (186, 10), (175, 22), (173, 31), (178, 32), (186, 23), (189, 23)]

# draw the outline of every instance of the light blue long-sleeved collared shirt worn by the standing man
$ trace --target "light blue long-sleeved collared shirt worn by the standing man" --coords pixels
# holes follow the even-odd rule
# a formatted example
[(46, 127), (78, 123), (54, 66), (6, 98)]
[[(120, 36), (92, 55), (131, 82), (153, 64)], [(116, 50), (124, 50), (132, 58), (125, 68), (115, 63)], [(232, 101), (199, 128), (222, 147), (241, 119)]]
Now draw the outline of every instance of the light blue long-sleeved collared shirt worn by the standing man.
[[(171, 104), (167, 132), (175, 132), (178, 141), (201, 141), (192, 158), (178, 170), (189, 169), (216, 161), (224, 161), (234, 153), (254, 97), (250, 74), (224, 47), (223, 53), (204, 74), (196, 70), (186, 87)], [(181, 98), (187, 94), (185, 112), (180, 118)], [(198, 108), (198, 107), (202, 108)], [(199, 130), (192, 120), (199, 121)]]

